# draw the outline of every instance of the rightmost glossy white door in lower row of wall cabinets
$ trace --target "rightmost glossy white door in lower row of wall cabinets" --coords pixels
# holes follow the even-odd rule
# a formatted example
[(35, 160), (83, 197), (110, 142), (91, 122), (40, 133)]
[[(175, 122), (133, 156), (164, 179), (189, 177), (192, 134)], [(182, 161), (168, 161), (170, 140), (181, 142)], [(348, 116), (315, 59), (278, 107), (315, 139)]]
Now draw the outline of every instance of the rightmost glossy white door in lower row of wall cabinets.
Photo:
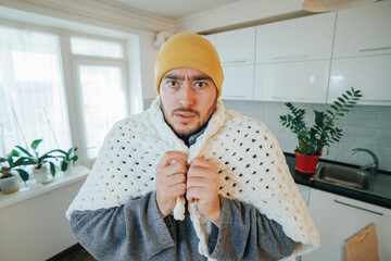
[(391, 55), (336, 59), (327, 102), (351, 87), (361, 89), (361, 104), (391, 105)]

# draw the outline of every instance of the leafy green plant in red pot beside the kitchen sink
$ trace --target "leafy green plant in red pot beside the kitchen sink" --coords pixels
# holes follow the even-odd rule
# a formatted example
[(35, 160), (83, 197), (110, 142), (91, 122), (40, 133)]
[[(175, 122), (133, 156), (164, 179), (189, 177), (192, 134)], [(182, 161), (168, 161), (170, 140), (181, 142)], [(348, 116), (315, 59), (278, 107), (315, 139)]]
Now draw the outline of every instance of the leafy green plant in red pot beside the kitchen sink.
[(351, 90), (346, 90), (345, 94), (338, 97), (326, 111), (314, 110), (315, 123), (311, 127), (304, 121), (304, 109), (298, 109), (290, 102), (285, 103), (291, 113), (281, 115), (280, 123), (298, 136), (299, 146), (294, 150), (298, 171), (303, 173), (316, 172), (323, 149), (338, 142), (342, 137), (342, 129), (335, 126), (335, 121), (344, 116), (344, 113), (353, 108), (361, 97), (363, 97), (361, 90), (355, 90), (352, 87)]

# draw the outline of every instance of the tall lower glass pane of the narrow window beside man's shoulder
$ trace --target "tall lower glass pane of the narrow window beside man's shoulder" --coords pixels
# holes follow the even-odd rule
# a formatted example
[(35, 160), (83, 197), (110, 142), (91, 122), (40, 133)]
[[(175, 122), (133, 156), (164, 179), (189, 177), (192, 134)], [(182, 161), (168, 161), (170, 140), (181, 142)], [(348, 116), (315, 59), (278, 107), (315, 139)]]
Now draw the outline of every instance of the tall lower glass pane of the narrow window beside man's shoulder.
[(96, 158), (108, 132), (126, 116), (122, 67), (79, 65), (86, 153)]

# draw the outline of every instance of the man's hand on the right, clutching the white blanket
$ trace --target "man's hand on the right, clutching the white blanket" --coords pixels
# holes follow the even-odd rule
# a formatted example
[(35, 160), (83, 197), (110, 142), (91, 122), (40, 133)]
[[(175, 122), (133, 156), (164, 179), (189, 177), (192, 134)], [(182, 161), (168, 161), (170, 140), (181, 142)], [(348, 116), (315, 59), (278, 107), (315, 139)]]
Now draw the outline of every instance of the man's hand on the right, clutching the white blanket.
[(187, 173), (186, 198), (191, 203), (197, 200), (200, 213), (219, 226), (218, 167), (215, 164), (194, 158)]

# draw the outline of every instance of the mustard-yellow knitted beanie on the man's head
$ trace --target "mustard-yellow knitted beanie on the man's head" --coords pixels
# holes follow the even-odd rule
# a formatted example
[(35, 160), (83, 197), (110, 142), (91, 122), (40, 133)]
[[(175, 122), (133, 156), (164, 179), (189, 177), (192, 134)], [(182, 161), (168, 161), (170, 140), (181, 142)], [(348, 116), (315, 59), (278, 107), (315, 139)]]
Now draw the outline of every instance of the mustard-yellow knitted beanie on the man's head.
[(207, 74), (222, 94), (224, 74), (216, 49), (204, 37), (181, 33), (171, 37), (163, 46), (155, 62), (155, 89), (160, 94), (163, 76), (174, 69), (195, 69)]

